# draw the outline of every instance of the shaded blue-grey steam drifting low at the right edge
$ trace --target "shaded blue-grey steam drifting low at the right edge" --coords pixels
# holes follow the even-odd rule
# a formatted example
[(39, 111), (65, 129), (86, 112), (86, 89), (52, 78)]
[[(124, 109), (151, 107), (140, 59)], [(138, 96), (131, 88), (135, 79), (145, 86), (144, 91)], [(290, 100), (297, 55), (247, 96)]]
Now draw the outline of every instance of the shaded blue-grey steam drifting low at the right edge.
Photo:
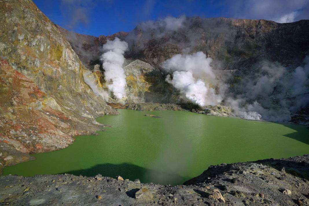
[(309, 103), (309, 58), (304, 67), (287, 69), (262, 62), (252, 76), (235, 88), (235, 98), (227, 98), (234, 114), (249, 120), (288, 122), (291, 115)]

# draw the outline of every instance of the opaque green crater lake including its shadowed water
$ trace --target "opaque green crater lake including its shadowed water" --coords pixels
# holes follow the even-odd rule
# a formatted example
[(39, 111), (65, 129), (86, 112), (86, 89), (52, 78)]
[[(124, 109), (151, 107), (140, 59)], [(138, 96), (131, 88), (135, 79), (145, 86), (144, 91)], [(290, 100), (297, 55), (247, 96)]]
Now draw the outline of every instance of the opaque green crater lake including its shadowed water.
[(186, 111), (118, 111), (97, 118), (112, 126), (99, 136), (78, 136), (68, 148), (34, 154), (36, 160), (5, 167), (3, 174), (120, 175), (176, 185), (210, 165), (309, 153), (309, 130), (302, 125)]

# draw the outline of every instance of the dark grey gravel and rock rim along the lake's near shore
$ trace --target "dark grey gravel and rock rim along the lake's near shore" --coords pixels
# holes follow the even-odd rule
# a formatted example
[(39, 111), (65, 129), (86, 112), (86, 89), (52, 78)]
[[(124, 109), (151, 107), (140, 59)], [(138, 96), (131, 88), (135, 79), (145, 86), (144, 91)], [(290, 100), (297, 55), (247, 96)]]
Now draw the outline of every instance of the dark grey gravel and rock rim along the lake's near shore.
[(308, 154), (210, 166), (179, 186), (119, 176), (8, 175), (0, 176), (0, 205), (309, 205), (308, 180)]

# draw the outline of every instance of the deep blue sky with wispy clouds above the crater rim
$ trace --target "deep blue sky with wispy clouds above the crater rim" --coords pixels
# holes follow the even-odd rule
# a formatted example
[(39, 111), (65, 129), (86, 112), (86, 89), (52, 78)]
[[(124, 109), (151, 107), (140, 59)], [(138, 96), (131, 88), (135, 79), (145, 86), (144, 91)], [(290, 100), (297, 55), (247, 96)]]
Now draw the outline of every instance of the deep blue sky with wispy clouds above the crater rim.
[(53, 22), (92, 36), (129, 32), (138, 23), (166, 16), (308, 19), (309, 0), (33, 0)]

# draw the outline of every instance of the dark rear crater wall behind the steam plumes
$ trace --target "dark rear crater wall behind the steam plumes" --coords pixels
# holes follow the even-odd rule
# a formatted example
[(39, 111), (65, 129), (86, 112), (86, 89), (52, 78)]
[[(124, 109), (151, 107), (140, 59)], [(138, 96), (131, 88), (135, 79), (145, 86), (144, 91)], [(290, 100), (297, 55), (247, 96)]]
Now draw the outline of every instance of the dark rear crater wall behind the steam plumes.
[[(125, 53), (129, 65), (124, 68), (127, 75), (126, 89), (130, 97), (126, 103), (176, 103), (190, 111), (194, 109), (193, 111), (208, 115), (231, 116), (233, 109), (229, 103), (226, 103), (227, 98), (222, 101), (222, 105), (206, 108), (182, 99), (179, 90), (165, 81), (168, 73), (162, 69), (161, 63), (176, 54), (192, 54), (201, 51), (206, 54), (206, 57), (213, 59), (211, 66), (215, 69), (216, 77), (228, 88), (226, 96), (236, 98), (237, 95), (248, 91), (245, 88), (248, 83), (245, 82), (246, 79), (251, 78), (250, 81), (254, 82), (257, 76), (265, 75), (265, 71), (261, 70), (262, 62), (286, 67), (287, 73), (291, 73), (298, 66), (303, 66), (304, 58), (309, 55), (308, 20), (276, 23), (267, 20), (179, 17), (174, 21), (181, 21), (181, 26), (172, 29), (164, 27), (163, 21), (144, 22), (128, 34), (113, 35), (129, 43), (129, 51)], [(63, 31), (61, 28), (60, 30)], [(85, 35), (75, 36), (75, 40), (70, 41), (73, 48), (73, 45), (78, 42), (88, 45), (87, 49), (78, 52), (81, 59), (87, 59), (84, 55), (85, 51), (99, 51), (91, 56), (91, 61), (83, 61), (83, 63), (90, 70), (96, 66), (103, 74), (104, 68), (100, 66), (99, 60), (102, 53), (101, 43), (98, 43), (99, 38), (91, 37), (91, 41), (95, 42), (92, 44), (87, 40), (89, 36), (87, 38)], [(100, 81), (104, 82), (103, 75)], [(260, 95), (257, 95), (255, 99), (249, 99), (248, 103), (262, 99), (261, 101), (265, 104), (264, 109), (274, 111), (280, 109), (283, 106), (278, 106), (278, 102), (282, 99), (278, 96), (289, 93), (289, 91), (280, 90), (284, 84), (282, 81), (279, 83), (281, 85), (277, 82), (269, 86), (273, 88), (271, 94), (273, 96), (267, 96), (268, 99), (272, 99), (271, 103)], [(276, 94), (282, 95), (276, 96)], [(297, 99), (297, 96), (288, 96), (285, 101), (291, 101), (293, 98)], [(291, 112), (293, 114), (288, 114), (291, 116), (290, 122), (308, 124), (308, 107)]]

